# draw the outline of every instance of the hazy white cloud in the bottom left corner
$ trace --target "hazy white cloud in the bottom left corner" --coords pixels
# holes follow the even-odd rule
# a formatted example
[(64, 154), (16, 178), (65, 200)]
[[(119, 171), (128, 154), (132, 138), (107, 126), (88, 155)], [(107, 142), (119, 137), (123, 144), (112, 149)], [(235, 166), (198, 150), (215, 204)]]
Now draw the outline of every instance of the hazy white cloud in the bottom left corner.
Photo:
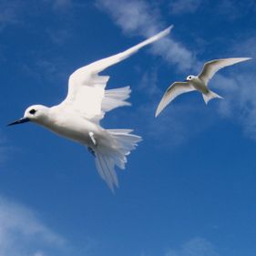
[(0, 196), (1, 256), (45, 256), (44, 250), (62, 250), (66, 243), (32, 210)]

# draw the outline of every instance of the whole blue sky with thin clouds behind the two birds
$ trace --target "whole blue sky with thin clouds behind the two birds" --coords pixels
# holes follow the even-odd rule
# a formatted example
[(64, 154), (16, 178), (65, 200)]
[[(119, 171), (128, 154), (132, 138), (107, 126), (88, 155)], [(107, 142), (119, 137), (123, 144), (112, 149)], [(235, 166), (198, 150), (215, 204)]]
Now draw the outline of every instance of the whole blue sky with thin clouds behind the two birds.
[[(1, 256), (251, 256), (256, 252), (255, 1), (0, 2)], [(143, 137), (113, 195), (94, 159), (33, 124), (6, 128), (33, 104), (53, 106), (77, 68), (174, 25), (154, 46), (103, 73), (130, 86), (132, 107), (105, 128)], [(222, 69), (205, 106), (180, 96), (154, 118), (169, 84), (203, 62)]]

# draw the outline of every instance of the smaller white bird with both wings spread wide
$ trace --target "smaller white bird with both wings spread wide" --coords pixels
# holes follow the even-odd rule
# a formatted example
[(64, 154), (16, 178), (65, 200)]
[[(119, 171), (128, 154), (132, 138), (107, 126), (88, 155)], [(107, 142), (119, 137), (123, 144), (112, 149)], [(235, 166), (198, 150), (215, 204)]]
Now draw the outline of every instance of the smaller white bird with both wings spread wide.
[(220, 58), (215, 60), (210, 60), (206, 62), (203, 66), (202, 71), (199, 76), (189, 75), (184, 82), (174, 82), (165, 92), (162, 97), (159, 106), (156, 111), (156, 117), (159, 116), (160, 112), (167, 107), (167, 105), (180, 94), (198, 90), (202, 93), (205, 104), (208, 104), (210, 99), (214, 97), (223, 98), (220, 95), (214, 93), (208, 88), (208, 82), (210, 78), (215, 75), (217, 71), (222, 67), (231, 66), (233, 64), (246, 61), (251, 59), (251, 57), (231, 57), (231, 58)]

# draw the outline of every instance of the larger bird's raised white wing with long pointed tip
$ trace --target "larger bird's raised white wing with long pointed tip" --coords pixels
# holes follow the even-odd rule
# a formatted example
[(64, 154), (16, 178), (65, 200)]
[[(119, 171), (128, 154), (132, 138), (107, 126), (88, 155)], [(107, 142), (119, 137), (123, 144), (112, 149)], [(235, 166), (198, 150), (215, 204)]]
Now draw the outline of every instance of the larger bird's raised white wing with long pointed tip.
[(129, 105), (125, 101), (129, 97), (129, 87), (105, 90), (109, 77), (99, 76), (98, 73), (136, 53), (141, 47), (167, 36), (171, 28), (172, 26), (169, 26), (156, 36), (149, 37), (124, 52), (78, 68), (69, 77), (67, 98), (61, 105), (65, 106), (65, 108), (71, 108), (79, 112), (83, 117), (96, 122), (104, 117), (105, 112), (113, 108)]

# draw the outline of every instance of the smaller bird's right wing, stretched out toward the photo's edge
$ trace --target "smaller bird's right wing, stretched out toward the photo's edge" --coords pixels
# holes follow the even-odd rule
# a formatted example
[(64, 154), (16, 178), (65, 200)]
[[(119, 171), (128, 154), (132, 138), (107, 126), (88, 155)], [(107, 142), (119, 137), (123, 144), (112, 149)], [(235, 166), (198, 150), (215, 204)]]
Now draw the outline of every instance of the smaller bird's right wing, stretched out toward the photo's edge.
[(230, 57), (210, 60), (204, 64), (199, 77), (207, 85), (210, 78), (213, 77), (220, 68), (231, 66), (249, 59), (251, 59), (251, 57)]

